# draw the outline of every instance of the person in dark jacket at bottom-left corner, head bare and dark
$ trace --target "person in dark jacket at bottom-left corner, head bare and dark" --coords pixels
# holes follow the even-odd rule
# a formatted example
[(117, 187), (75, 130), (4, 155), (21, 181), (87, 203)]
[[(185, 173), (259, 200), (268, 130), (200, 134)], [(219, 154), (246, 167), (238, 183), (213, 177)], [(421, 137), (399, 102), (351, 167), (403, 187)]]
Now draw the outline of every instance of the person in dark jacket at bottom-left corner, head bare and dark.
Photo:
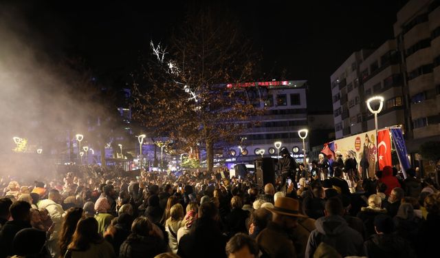
[(6, 222), (0, 231), (0, 258), (14, 255), (12, 240), (23, 228), (32, 228), (30, 224), (30, 204), (24, 201), (14, 202), (10, 206), (10, 213), (14, 220)]

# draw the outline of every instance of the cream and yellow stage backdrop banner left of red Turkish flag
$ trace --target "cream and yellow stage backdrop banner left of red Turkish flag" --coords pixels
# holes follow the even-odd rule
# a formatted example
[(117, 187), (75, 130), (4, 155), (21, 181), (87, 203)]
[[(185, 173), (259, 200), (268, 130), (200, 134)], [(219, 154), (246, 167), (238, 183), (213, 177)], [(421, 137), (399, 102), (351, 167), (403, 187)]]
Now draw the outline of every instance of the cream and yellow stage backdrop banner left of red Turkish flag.
[[(360, 173), (363, 174), (368, 171), (369, 177), (373, 178), (377, 151), (376, 140), (375, 130), (372, 130), (367, 131), (366, 133), (359, 133), (354, 136), (335, 140), (334, 148), (335, 152), (340, 151), (342, 153), (344, 160), (346, 158), (346, 153), (351, 153), (351, 155), (355, 156)], [(391, 149), (389, 151), (391, 153)]]

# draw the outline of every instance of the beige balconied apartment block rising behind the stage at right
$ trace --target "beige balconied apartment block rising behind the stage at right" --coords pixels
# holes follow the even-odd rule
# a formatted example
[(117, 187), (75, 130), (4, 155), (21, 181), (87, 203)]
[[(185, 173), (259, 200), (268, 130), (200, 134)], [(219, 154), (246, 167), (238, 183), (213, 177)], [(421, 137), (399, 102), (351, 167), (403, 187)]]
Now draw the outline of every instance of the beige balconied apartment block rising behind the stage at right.
[(379, 128), (400, 126), (416, 153), (440, 138), (440, 1), (406, 2), (394, 34), (376, 50), (351, 54), (331, 75), (336, 138), (374, 129), (365, 101), (380, 95)]

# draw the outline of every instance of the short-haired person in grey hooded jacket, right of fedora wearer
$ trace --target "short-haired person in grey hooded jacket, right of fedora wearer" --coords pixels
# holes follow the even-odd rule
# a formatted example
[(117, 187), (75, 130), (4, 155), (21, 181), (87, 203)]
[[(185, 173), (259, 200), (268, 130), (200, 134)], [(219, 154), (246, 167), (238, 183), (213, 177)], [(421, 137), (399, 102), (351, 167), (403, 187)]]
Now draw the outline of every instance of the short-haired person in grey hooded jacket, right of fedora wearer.
[(342, 257), (362, 256), (364, 239), (358, 231), (350, 228), (342, 217), (344, 208), (338, 197), (333, 197), (325, 203), (325, 217), (316, 220), (316, 229), (310, 233), (305, 257), (314, 257), (319, 244), (325, 242), (335, 248)]

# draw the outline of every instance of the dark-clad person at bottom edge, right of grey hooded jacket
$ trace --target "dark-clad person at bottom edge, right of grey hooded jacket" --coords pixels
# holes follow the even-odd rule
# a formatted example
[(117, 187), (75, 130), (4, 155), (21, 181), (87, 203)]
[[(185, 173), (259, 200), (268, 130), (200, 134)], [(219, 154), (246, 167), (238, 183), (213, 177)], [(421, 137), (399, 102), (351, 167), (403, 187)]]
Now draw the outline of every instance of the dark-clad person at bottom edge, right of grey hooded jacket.
[(414, 250), (408, 241), (393, 234), (393, 219), (388, 215), (377, 215), (374, 219), (375, 231), (373, 235), (364, 242), (366, 257), (374, 258), (412, 258), (415, 257)]

